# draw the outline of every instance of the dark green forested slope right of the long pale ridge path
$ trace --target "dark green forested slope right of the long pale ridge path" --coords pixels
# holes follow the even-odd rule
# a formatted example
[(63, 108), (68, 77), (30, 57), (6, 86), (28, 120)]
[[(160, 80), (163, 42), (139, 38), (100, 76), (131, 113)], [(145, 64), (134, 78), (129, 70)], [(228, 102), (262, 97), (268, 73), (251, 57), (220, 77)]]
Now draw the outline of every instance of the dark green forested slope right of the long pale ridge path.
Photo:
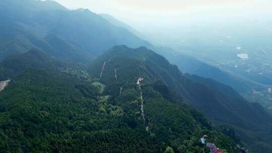
[[(146, 115), (151, 121), (151, 131), (155, 135), (158, 133), (156, 135), (158, 138), (168, 140), (168, 144), (175, 152), (202, 152), (199, 147), (199, 137), (197, 137), (201, 134), (208, 134), (208, 141), (215, 142), (220, 148), (226, 148), (230, 152), (239, 151), (234, 147), (235, 142), (222, 134), (221, 129), (213, 128), (201, 113), (188, 108), (185, 104), (177, 106), (177, 104), (159, 98), (162, 97), (160, 93), (157, 93), (156, 97), (154, 94), (149, 96), (152, 88), (150, 86), (145, 88), (143, 92), (146, 93), (144, 95)], [(156, 91), (152, 93), (154, 92)], [(236, 136), (233, 138), (237, 139)]]

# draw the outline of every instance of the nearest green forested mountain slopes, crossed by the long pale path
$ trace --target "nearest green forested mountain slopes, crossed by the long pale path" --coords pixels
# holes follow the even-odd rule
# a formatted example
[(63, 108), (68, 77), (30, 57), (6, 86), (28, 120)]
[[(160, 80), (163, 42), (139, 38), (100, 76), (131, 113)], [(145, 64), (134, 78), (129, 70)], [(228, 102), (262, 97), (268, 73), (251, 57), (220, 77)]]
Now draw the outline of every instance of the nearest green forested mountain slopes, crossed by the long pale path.
[(213, 126), (160, 80), (106, 83), (37, 49), (4, 61), (11, 82), (0, 93), (3, 152), (202, 152), (202, 134), (242, 152), (233, 129)]

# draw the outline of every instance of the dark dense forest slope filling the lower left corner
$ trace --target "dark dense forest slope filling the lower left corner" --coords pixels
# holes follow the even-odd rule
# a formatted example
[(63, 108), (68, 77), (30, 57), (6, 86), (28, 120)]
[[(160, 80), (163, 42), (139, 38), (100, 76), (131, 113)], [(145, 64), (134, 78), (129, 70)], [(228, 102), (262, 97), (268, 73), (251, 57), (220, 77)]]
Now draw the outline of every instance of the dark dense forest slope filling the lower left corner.
[[(116, 106), (106, 99), (84, 96), (74, 79), (39, 70), (14, 79), (0, 95), (0, 150), (161, 152), (164, 146), (144, 126), (128, 128), (122, 111), (113, 112)], [(101, 105), (113, 110), (101, 111)]]

